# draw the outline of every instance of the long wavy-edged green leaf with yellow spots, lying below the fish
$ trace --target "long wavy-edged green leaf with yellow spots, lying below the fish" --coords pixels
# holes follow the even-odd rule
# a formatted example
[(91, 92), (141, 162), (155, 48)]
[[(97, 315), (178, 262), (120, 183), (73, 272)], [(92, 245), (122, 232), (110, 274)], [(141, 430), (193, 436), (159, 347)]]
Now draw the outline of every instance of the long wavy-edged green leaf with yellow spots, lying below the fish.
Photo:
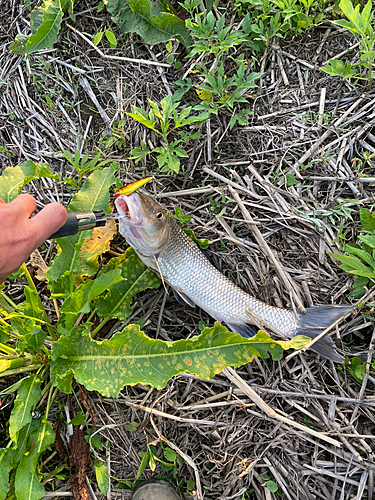
[(161, 389), (180, 373), (210, 380), (226, 366), (241, 366), (253, 357), (268, 358), (271, 353), (273, 359), (281, 359), (284, 349), (300, 348), (309, 340), (299, 336), (278, 342), (265, 332), (245, 339), (215, 323), (199, 336), (176, 342), (152, 340), (138, 325), (98, 342), (74, 328), (52, 345), (51, 371), (59, 377), (74, 374), (87, 390), (117, 397), (124, 385), (141, 383)]

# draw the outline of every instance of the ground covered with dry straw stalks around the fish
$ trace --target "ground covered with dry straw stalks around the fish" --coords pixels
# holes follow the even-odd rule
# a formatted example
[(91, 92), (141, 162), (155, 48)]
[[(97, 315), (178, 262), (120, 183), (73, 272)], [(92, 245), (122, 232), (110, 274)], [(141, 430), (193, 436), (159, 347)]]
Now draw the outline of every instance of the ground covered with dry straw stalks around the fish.
[[(0, 154), (1, 169), (32, 159), (69, 173), (61, 151), (92, 154), (112, 126), (122, 145), (104, 154), (119, 162), (122, 182), (153, 175), (148, 192), (166, 208), (179, 206), (192, 216), (189, 227), (213, 242), (208, 253), (215, 265), (244, 290), (279, 307), (356, 304), (349, 299), (354, 278), (329, 252), (340, 249), (342, 236), (356, 241), (358, 207), (373, 207), (375, 183), (363, 176), (374, 172), (364, 154), (375, 152), (375, 91), (319, 70), (354, 44), (350, 36), (323, 23), (299, 39), (275, 41), (258, 66), (251, 63), (263, 76), (260, 87), (247, 95), (253, 112), (249, 125), (230, 131), (230, 115), (212, 115), (201, 127), (202, 136), (188, 144), (180, 174), (166, 176), (158, 173), (155, 159), (138, 164), (128, 159), (141, 140), (155, 145), (157, 138), (125, 112), (133, 105), (147, 109), (147, 99), (160, 102), (176, 89), (173, 82), (188, 70), (183, 48), (177, 47), (183, 62), (178, 71), (103, 57), (85, 33), (105, 28), (110, 16), (79, 2), (76, 22), (63, 22), (56, 47), (25, 60), (8, 46), (27, 28), (29, 12), (18, 0), (1, 3), (0, 145), (8, 150)], [(117, 31), (116, 36), (120, 57), (167, 59), (164, 45), (148, 46)], [(189, 94), (184, 99), (188, 102)], [(116, 129), (120, 120), (121, 130)], [(71, 197), (62, 184), (55, 189), (34, 182), (30, 190), (40, 207), (56, 200), (67, 205)], [(125, 247), (120, 237), (115, 247)], [(45, 257), (48, 261), (51, 254)], [(22, 287), (9, 293), (19, 300)], [(363, 300), (367, 306), (331, 332), (349, 360), (371, 360), (373, 295), (370, 289)], [(143, 319), (145, 332), (164, 340), (198, 333), (200, 321), (213, 323), (203, 311), (180, 306), (163, 288), (137, 296), (133, 311), (129, 322)], [(107, 336), (118, 324), (111, 327)], [(147, 467), (141, 479), (166, 476), (187, 498), (187, 484), (194, 481), (190, 497), (207, 500), (371, 499), (374, 383), (371, 370), (361, 384), (346, 367), (305, 353), (280, 362), (255, 359), (209, 382), (184, 374), (160, 391), (125, 387), (117, 400), (88, 393), (96, 417), (91, 425), (102, 442), (109, 442), (107, 457), (97, 451), (111, 471), (107, 498), (130, 498), (125, 481), (136, 477), (138, 452), (146, 451), (147, 440), (162, 436), (181, 463), (167, 472), (159, 464), (154, 472)], [(137, 430), (125, 428), (131, 422)], [(65, 432), (61, 429), (63, 438)], [(63, 464), (59, 454), (51, 460)], [(92, 467), (88, 477), (94, 478)], [(267, 488), (267, 478), (277, 483), (277, 492)], [(54, 494), (45, 485), (48, 498), (70, 494), (68, 482), (55, 484)], [(93, 498), (102, 497), (95, 479), (92, 489)]]

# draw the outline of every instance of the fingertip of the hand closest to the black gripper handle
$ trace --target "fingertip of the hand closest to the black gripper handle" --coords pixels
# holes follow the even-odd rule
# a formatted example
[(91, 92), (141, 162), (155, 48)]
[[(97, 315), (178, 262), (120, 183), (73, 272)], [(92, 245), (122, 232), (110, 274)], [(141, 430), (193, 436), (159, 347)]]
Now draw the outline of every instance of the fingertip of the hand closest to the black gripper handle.
[(60, 229), (67, 217), (67, 211), (60, 203), (50, 203), (32, 217), (29, 221), (29, 230), (34, 246), (40, 246), (51, 234)]

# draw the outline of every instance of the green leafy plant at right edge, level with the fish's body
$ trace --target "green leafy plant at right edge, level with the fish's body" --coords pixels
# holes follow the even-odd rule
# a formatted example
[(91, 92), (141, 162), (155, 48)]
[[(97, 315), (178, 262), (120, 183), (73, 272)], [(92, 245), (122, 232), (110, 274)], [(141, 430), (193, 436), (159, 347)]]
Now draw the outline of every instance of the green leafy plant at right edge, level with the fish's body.
[(339, 262), (340, 268), (357, 276), (351, 293), (353, 298), (360, 298), (366, 293), (366, 287), (375, 283), (375, 216), (365, 208), (359, 209), (361, 232), (359, 243), (345, 244), (343, 251), (348, 254), (331, 253)]

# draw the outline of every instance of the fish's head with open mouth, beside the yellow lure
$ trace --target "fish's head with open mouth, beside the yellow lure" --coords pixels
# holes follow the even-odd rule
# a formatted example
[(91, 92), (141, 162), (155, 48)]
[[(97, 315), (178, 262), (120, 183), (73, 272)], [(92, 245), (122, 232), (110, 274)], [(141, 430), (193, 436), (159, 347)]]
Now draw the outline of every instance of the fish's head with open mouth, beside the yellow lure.
[(157, 257), (169, 238), (167, 210), (150, 196), (138, 192), (117, 196), (115, 205), (119, 214), (125, 215), (119, 220), (119, 231), (129, 245), (144, 262)]

